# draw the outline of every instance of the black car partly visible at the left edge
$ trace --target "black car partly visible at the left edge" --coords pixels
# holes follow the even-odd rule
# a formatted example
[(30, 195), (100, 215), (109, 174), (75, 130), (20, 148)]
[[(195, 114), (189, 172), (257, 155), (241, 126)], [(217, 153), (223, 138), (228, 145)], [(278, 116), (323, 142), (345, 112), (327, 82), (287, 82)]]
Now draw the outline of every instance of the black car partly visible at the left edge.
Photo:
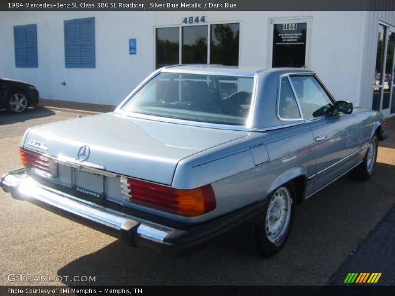
[(33, 84), (0, 78), (0, 109), (20, 113), (39, 104), (39, 91)]

